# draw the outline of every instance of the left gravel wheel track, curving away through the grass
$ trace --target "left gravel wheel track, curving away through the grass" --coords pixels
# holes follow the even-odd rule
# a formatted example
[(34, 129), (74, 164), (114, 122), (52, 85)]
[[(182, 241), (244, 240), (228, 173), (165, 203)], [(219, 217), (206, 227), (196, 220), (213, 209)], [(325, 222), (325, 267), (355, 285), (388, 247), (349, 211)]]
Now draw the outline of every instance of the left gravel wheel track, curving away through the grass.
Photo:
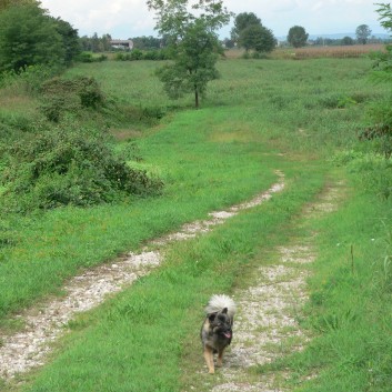
[(281, 172), (277, 174), (279, 182), (250, 202), (233, 205), (227, 211), (211, 212), (209, 220), (185, 224), (177, 233), (151, 241), (139, 254), (130, 253), (122, 261), (88, 270), (69, 281), (63, 288), (64, 296), (41, 303), (20, 314), (18, 318), (26, 322), (24, 330), (1, 336), (0, 378), (12, 380), (18, 373), (42, 365), (52, 343), (67, 332), (67, 323), (77, 313), (99, 305), (109, 294), (119, 292), (124, 285), (158, 267), (162, 259), (161, 250), (170, 241), (185, 240), (208, 232), (241, 210), (258, 205), (271, 199), (273, 193), (282, 191), (284, 175)]

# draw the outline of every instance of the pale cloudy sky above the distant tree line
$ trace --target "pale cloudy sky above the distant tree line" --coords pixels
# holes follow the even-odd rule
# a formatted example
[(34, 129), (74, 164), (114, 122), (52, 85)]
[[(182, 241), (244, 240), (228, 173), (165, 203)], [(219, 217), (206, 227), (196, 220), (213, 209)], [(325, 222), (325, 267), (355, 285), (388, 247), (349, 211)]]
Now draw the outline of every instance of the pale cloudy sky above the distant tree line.
[[(154, 13), (145, 0), (41, 0), (49, 13), (68, 21), (79, 36), (99, 37), (109, 33), (113, 39), (140, 36), (158, 37)], [(253, 12), (275, 37), (287, 37), (293, 26), (302, 26), (310, 36), (355, 33), (360, 24), (368, 24), (372, 33), (388, 33), (378, 21), (375, 2), (382, 0), (223, 0), (229, 11)], [(233, 21), (220, 31), (230, 37)]]

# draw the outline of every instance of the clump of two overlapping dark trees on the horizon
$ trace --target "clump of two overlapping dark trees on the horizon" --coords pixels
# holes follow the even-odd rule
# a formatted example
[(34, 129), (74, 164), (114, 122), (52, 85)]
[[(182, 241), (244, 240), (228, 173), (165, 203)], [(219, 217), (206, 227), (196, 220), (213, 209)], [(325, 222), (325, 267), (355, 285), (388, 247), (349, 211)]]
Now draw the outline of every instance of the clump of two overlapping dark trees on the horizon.
[(231, 37), (240, 48), (244, 48), (247, 51), (269, 53), (277, 46), (272, 31), (262, 26), (261, 19), (253, 12), (243, 12), (235, 17)]

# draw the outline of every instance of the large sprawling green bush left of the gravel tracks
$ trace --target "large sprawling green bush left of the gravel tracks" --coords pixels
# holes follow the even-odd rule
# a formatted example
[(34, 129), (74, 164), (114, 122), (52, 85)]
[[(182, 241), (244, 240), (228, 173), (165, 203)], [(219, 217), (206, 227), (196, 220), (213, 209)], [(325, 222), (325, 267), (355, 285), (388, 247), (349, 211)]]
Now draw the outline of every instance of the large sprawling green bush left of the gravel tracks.
[(115, 157), (101, 132), (74, 124), (39, 130), (6, 153), (2, 207), (11, 211), (87, 207), (162, 189), (159, 179)]

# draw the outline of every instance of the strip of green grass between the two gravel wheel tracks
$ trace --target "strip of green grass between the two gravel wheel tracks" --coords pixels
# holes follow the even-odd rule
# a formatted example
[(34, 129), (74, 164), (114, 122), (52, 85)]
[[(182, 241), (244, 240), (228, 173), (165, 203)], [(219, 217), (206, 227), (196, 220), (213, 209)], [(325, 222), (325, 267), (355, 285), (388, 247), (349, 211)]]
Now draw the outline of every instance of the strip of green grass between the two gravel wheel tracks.
[[(72, 322), (58, 355), (22, 390), (180, 391), (181, 358), (199, 341), (208, 298), (229, 293), (259, 249), (284, 238), (282, 228), (322, 188), (324, 168), (291, 170), (282, 193), (204, 237), (174, 243), (159, 270)], [(199, 365), (202, 371), (201, 348)]]

